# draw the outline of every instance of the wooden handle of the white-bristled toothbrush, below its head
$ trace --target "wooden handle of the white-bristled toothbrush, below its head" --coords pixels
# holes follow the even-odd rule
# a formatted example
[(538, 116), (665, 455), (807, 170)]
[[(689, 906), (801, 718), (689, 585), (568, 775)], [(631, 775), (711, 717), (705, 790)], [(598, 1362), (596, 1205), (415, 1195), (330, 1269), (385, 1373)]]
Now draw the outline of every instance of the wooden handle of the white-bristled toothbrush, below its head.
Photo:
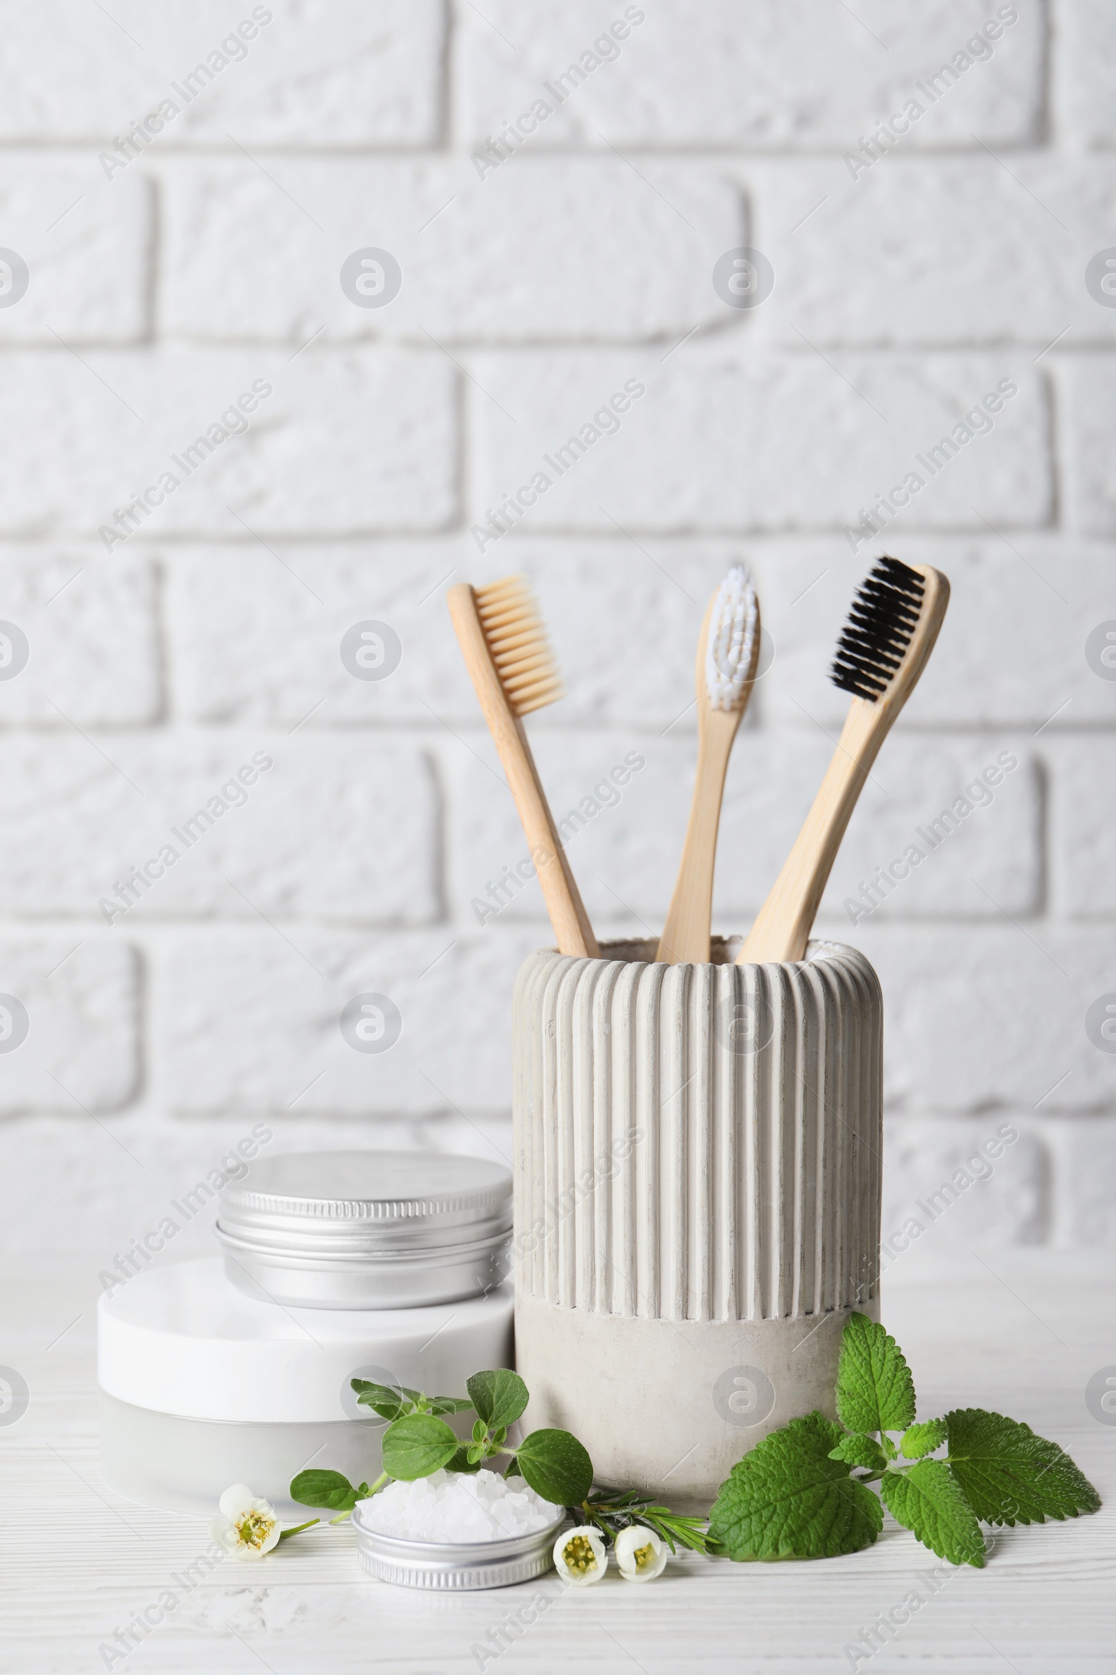
[(666, 965), (704, 965), (709, 960), (713, 868), (721, 819), (724, 774), (740, 727), (740, 710), (698, 710), (698, 772), (689, 824), (656, 960)]

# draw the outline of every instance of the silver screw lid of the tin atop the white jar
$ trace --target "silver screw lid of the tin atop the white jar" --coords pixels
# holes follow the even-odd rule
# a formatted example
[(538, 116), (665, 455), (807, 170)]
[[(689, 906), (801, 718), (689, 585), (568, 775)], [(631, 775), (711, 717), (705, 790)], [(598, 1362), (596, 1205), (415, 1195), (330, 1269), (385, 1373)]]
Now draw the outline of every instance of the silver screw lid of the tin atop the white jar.
[(432, 1250), (512, 1224), (502, 1164), (447, 1152), (289, 1152), (253, 1164), (221, 1193), (218, 1228), (291, 1255)]

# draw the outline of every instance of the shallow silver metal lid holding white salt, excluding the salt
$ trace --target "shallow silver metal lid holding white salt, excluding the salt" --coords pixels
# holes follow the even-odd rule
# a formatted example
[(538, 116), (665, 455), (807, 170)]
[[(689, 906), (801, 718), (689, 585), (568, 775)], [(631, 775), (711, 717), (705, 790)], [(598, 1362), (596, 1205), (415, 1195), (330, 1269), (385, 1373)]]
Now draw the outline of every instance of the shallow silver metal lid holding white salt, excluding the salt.
[(402, 1588), (435, 1588), (467, 1593), (477, 1588), (509, 1588), (554, 1569), (554, 1543), (566, 1514), (530, 1536), (500, 1541), (403, 1541), (368, 1529), (353, 1513), (360, 1563), (380, 1581)]

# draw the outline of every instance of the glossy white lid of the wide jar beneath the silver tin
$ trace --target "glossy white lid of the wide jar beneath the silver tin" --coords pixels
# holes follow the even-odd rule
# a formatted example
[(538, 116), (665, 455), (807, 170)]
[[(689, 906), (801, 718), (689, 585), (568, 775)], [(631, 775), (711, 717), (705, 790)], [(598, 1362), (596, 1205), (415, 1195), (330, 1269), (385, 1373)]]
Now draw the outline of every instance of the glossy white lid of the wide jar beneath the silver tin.
[(507, 1367), (510, 1350), (510, 1285), (427, 1308), (283, 1308), (238, 1291), (207, 1256), (149, 1268), (97, 1308), (102, 1390), (182, 1419), (363, 1417), (353, 1377), (463, 1395), (470, 1374)]

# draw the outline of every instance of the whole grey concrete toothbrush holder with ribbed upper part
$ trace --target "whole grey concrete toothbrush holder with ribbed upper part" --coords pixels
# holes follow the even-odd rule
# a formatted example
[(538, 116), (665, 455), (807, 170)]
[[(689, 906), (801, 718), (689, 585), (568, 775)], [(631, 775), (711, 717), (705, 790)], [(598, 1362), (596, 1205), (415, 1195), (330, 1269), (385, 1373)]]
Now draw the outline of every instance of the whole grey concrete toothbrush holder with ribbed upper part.
[(532, 953), (515, 985), (515, 1357), (530, 1427), (706, 1511), (878, 1315), (882, 997), (862, 953)]

